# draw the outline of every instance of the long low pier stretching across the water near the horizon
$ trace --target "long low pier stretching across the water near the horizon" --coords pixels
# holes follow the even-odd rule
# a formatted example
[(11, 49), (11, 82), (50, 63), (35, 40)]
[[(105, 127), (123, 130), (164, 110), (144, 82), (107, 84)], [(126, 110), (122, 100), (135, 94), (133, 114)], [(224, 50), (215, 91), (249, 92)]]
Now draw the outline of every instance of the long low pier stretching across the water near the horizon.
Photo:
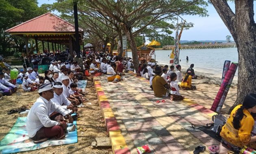
[[(171, 50), (174, 45), (165, 45), (163, 50)], [(215, 43), (215, 44), (200, 44), (200, 45), (179, 45), (180, 49), (216, 49), (236, 47), (236, 43)]]

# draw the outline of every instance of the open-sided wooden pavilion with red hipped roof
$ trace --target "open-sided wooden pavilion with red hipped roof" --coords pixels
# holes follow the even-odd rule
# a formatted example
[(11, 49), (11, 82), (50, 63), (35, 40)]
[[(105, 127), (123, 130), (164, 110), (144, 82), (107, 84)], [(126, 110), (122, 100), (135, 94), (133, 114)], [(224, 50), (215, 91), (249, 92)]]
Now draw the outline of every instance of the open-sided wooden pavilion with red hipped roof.
[[(79, 28), (79, 44), (82, 45), (83, 30)], [(52, 43), (52, 51), (57, 49), (64, 51), (67, 47), (70, 51), (75, 49), (75, 26), (60, 17), (45, 13), (39, 17), (30, 19), (22, 24), (6, 30), (11, 35), (25, 38), (26, 52), (29, 53), (28, 39), (35, 39), (36, 51), (38, 53), (38, 41), (42, 41), (43, 51), (45, 51), (44, 41), (47, 42), (48, 52), (50, 52), (49, 43)], [(56, 48), (56, 45), (58, 48)], [(62, 48), (62, 49), (61, 49)], [(73, 53), (73, 52), (71, 52)]]

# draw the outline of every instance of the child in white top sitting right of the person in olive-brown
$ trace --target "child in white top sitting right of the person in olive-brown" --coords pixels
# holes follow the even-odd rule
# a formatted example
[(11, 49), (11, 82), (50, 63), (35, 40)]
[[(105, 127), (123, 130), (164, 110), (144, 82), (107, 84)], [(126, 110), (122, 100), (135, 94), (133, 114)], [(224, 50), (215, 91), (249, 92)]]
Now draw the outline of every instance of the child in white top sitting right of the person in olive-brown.
[(171, 77), (171, 83), (170, 83), (170, 86), (171, 86), (171, 101), (180, 101), (180, 100), (183, 100), (184, 97), (180, 95), (179, 93), (179, 87), (178, 87), (178, 84), (175, 82), (175, 80), (177, 79), (177, 75), (176, 73), (171, 73), (170, 75)]

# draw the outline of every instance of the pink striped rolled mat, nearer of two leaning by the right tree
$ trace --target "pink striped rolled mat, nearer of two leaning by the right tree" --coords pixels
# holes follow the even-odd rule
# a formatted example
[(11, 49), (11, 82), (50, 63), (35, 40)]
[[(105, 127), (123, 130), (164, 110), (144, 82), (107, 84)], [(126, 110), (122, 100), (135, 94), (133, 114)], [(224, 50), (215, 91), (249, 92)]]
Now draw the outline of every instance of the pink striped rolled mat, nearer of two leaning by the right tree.
[[(237, 63), (233, 63), (233, 62), (230, 65), (230, 67), (228, 69), (228, 72), (225, 75), (225, 78), (224, 78), (223, 82), (221, 83), (221, 87), (219, 88), (219, 92), (218, 92), (217, 96), (215, 97), (215, 100), (214, 100), (213, 105), (210, 108), (210, 110), (216, 111), (220, 101), (222, 101), (222, 105), (223, 105), (223, 103), (225, 101), (225, 98), (226, 98), (226, 96), (228, 94), (228, 91), (225, 92), (225, 89), (226, 89), (226, 87), (228, 85), (230, 86), (230, 84), (232, 83), (234, 74), (236, 73), (237, 66), (238, 66), (238, 64)], [(221, 100), (223, 94), (224, 94), (225, 98)], [(221, 105), (221, 108), (222, 108), (222, 105)]]

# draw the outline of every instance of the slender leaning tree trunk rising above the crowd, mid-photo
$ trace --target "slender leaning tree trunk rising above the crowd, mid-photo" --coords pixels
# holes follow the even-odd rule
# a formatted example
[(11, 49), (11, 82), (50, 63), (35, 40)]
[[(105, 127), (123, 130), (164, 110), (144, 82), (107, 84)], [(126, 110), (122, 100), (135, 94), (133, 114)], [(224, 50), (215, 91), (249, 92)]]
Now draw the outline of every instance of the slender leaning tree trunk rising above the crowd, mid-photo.
[(130, 47), (132, 50), (132, 60), (133, 60), (133, 65), (136, 71), (138, 71), (139, 68), (139, 60), (138, 60), (138, 54), (137, 54), (137, 45), (135, 42), (135, 39), (132, 35), (132, 31), (129, 27), (124, 28), (124, 31), (126, 32), (127, 39), (130, 43)]

